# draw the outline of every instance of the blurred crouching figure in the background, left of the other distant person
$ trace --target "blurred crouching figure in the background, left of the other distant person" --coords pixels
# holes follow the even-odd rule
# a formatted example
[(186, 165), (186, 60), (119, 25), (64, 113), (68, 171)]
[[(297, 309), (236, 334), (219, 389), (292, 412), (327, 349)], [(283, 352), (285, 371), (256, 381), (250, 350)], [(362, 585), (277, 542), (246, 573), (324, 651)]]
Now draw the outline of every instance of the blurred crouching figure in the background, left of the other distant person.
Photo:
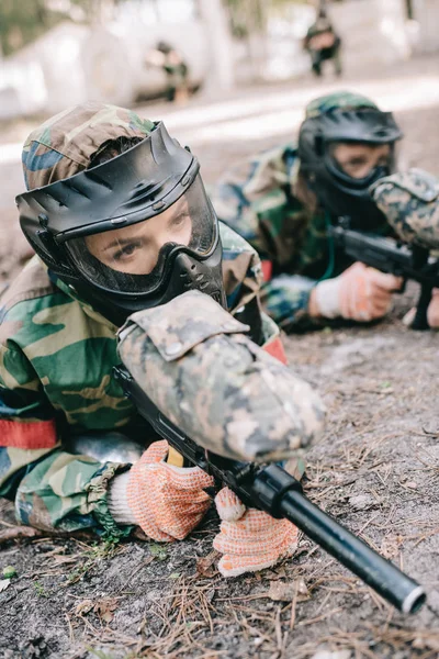
[(183, 55), (168, 42), (159, 41), (146, 55), (146, 63), (160, 67), (167, 77), (166, 98), (169, 102), (184, 103), (189, 97), (189, 67)]

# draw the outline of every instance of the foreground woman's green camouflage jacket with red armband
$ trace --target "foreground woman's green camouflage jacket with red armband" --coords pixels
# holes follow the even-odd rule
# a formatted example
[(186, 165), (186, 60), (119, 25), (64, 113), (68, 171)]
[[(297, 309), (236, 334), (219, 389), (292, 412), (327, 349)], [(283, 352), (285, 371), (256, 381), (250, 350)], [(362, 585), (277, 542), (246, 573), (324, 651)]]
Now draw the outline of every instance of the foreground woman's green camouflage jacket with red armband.
[[(255, 298), (257, 254), (221, 225), (232, 313)], [(69, 434), (127, 428), (138, 418), (112, 377), (116, 327), (53, 281), (37, 257), (3, 293), (0, 311), (0, 495), (15, 500), (22, 524), (44, 529), (116, 526), (106, 485), (126, 465), (63, 450)], [(264, 337), (278, 333), (266, 317)]]

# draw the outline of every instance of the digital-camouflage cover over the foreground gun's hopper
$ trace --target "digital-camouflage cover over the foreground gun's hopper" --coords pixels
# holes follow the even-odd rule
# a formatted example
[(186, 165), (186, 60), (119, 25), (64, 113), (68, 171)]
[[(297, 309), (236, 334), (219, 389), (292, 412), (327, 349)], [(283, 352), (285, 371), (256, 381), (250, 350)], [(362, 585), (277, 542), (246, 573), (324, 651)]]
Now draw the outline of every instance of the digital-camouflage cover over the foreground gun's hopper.
[(212, 298), (189, 291), (131, 315), (119, 354), (156, 406), (199, 446), (246, 461), (297, 458), (320, 435), (323, 403), (245, 336), (248, 330)]

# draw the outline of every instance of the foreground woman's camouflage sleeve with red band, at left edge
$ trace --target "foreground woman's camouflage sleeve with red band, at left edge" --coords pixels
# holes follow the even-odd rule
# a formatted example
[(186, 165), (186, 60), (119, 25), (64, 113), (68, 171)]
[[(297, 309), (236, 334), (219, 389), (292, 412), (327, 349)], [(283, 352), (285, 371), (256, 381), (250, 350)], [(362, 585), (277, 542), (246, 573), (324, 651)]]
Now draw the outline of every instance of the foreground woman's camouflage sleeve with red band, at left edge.
[(0, 496), (15, 501), (21, 524), (45, 530), (95, 528), (120, 536), (106, 504), (117, 463), (59, 448), (55, 410), (23, 353), (0, 346)]

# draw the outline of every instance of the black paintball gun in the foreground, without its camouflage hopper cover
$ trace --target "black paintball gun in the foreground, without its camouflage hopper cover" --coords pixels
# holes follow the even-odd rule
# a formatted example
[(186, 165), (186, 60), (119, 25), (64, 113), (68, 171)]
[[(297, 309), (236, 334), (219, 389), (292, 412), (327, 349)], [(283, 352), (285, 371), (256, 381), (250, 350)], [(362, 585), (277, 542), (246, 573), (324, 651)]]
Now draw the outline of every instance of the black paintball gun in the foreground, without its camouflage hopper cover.
[(200, 447), (158, 410), (124, 366), (115, 367), (114, 371), (139, 414), (191, 465), (230, 488), (247, 506), (296, 524), (403, 613), (415, 613), (421, 607), (426, 600), (424, 589), (314, 505), (303, 494), (301, 483), (288, 471), (275, 463), (243, 462)]

